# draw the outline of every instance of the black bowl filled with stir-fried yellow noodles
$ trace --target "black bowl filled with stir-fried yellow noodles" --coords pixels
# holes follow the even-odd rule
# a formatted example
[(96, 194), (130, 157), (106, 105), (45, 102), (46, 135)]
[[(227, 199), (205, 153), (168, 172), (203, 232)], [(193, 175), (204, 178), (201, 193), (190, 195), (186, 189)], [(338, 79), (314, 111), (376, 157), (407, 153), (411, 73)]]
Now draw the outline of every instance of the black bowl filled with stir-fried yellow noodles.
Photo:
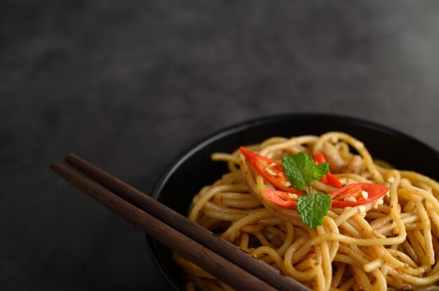
[[(266, 173), (256, 171), (241, 146), (273, 161)], [(339, 183), (319, 176), (310, 193), (333, 197), (337, 188), (353, 185), (385, 187), (386, 193), (372, 197), (361, 190), (337, 207), (332, 198), (320, 224), (310, 227), (299, 205), (283, 204), (297, 199), (289, 191), (295, 184), (277, 183), (281, 173), (269, 169), (299, 152), (323, 155)], [(276, 115), (194, 144), (163, 172), (151, 196), (311, 290), (439, 290), (438, 164), (437, 150), (373, 122)], [(270, 191), (289, 196), (277, 203)], [(149, 236), (147, 244), (170, 288), (230, 290)]]

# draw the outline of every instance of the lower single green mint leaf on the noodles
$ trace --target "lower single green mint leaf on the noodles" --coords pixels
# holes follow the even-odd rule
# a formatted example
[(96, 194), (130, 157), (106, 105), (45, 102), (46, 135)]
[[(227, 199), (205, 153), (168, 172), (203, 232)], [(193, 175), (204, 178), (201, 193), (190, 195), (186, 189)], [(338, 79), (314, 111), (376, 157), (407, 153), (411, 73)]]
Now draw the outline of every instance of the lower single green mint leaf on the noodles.
[(330, 194), (323, 192), (309, 193), (297, 199), (297, 213), (302, 221), (311, 228), (322, 225), (327, 210), (331, 208)]

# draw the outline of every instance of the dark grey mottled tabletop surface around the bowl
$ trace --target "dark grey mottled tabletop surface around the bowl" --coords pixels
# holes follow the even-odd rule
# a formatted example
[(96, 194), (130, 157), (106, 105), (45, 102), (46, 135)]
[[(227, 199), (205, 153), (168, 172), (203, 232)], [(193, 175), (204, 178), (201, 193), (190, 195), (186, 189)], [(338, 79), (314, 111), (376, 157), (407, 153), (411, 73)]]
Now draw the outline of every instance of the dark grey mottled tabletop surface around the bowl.
[(339, 113), (439, 149), (438, 1), (1, 1), (0, 289), (167, 290), (144, 234), (48, 170), (148, 192), (236, 122)]

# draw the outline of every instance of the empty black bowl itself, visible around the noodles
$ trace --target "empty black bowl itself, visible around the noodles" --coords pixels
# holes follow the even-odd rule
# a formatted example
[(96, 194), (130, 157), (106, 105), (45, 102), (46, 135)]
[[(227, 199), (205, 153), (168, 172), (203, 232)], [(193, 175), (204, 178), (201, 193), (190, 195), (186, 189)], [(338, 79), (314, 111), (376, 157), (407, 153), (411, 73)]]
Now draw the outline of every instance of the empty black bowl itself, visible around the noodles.
[[(339, 131), (363, 141), (372, 157), (384, 159), (398, 169), (423, 173), (439, 180), (439, 152), (381, 125), (335, 115), (276, 115), (243, 122), (223, 129), (184, 151), (163, 172), (151, 196), (182, 215), (194, 194), (227, 171), (226, 163), (212, 162), (212, 152), (231, 152), (239, 146), (259, 143), (271, 136), (320, 135)], [(182, 271), (173, 262), (170, 250), (147, 236), (147, 243), (158, 270), (175, 290), (184, 290)]]

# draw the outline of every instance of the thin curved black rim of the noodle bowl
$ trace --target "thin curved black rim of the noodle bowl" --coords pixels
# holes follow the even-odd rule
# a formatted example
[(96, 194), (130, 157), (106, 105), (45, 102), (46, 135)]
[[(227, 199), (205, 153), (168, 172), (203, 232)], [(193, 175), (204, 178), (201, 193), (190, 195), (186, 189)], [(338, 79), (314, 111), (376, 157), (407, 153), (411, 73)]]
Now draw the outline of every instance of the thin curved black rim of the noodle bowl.
[[(365, 127), (368, 129), (372, 129), (377, 132), (382, 132), (384, 134), (390, 134), (392, 136), (396, 136), (400, 139), (405, 139), (414, 145), (419, 146), (420, 148), (424, 148), (424, 150), (431, 152), (433, 155), (436, 155), (439, 159), (439, 151), (435, 150), (435, 148), (429, 146), (428, 144), (419, 141), (419, 139), (414, 138), (404, 132), (399, 131), (398, 129), (393, 129), (392, 127), (386, 125), (380, 125), (377, 122), (372, 122), (370, 120), (365, 120), (362, 118), (356, 118), (349, 115), (339, 115), (339, 114), (331, 114), (331, 113), (283, 113), (276, 115), (264, 115), (259, 118), (251, 118), (248, 120), (244, 120), (242, 122), (237, 122), (234, 125), (229, 125), (227, 127), (223, 127), (222, 129), (218, 129), (207, 136), (198, 139), (194, 143), (191, 143), (187, 148), (184, 148), (175, 158), (168, 163), (168, 165), (164, 168), (161, 174), (158, 176), (158, 179), (154, 183), (151, 188), (150, 196), (154, 199), (158, 199), (158, 196), (161, 194), (164, 185), (166, 185), (166, 181), (173, 175), (173, 173), (183, 164), (187, 159), (189, 159), (194, 153), (196, 153), (201, 148), (207, 146), (210, 143), (213, 143), (219, 139), (222, 139), (224, 136), (228, 136), (230, 134), (234, 134), (236, 132), (241, 132), (245, 129), (249, 129), (252, 127), (257, 127), (259, 125), (265, 125), (270, 122), (278, 122), (282, 120), (306, 120), (306, 119), (322, 119), (322, 120), (331, 120), (335, 122), (343, 122), (349, 125), (356, 125), (359, 127)], [(168, 276), (168, 273), (161, 266), (161, 262), (158, 260), (156, 253), (156, 241), (152, 239), (151, 236), (145, 234), (147, 241), (147, 248), (149, 251), (149, 255), (151, 260), (154, 262), (154, 266), (158, 270), (159, 274), (161, 274), (162, 278), (170, 287), (174, 290), (180, 290), (175, 281), (175, 278), (171, 278)]]

